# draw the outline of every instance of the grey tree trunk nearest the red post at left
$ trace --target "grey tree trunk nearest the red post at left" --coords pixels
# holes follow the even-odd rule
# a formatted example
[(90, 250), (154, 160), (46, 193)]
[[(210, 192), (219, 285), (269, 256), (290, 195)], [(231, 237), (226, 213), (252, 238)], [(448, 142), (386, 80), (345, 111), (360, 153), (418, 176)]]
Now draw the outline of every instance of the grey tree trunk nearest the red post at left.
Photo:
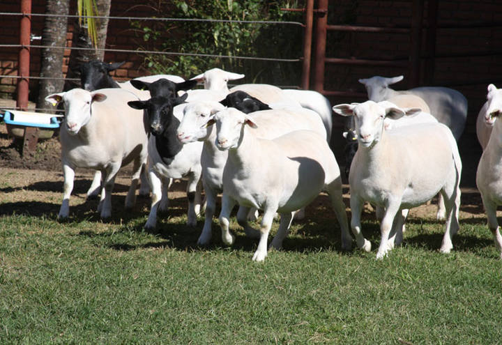
[[(41, 52), (40, 77), (63, 78), (64, 49), (51, 47), (65, 47), (66, 28), (68, 26), (68, 8), (70, 0), (47, 0), (45, 13), (59, 15), (45, 17), (42, 33), (42, 45), (47, 46)], [(45, 96), (63, 90), (63, 79), (40, 79), (38, 87), (37, 108), (50, 109), (52, 106), (45, 102)]]

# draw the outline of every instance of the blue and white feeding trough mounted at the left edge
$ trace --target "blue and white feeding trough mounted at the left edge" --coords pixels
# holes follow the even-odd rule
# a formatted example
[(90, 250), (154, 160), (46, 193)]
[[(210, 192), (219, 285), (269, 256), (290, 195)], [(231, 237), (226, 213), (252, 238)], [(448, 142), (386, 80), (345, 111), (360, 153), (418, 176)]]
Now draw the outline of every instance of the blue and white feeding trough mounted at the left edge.
[(59, 128), (58, 118), (62, 115), (23, 112), (20, 110), (3, 110), (3, 122), (6, 123), (8, 135), (22, 139), (26, 128), (38, 128), (38, 139), (49, 139), (54, 130)]

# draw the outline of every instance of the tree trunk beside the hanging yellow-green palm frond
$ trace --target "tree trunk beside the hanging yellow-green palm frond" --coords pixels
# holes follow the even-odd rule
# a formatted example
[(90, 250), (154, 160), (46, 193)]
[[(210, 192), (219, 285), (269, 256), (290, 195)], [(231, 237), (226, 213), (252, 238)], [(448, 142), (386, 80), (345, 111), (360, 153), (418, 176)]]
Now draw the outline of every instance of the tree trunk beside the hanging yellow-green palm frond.
[[(97, 15), (108, 16), (110, 7), (112, 6), (112, 0), (96, 0)], [(79, 48), (94, 48), (91, 38), (87, 34), (87, 26), (84, 25), (82, 21), (82, 26), (79, 25), (77, 19), (73, 23), (73, 47)], [(108, 30), (108, 20), (107, 19), (96, 19), (96, 31), (98, 36), (98, 42), (96, 46), (98, 49), (105, 48), (106, 38)], [(72, 49), (70, 52), (70, 61), (68, 61), (68, 78), (80, 78), (79, 66), (81, 63), (91, 61), (91, 60), (103, 60), (105, 52), (102, 50), (81, 50)], [(65, 90), (75, 89), (76, 87), (82, 87), (80, 82), (71, 82), (69, 80), (65, 83)]]

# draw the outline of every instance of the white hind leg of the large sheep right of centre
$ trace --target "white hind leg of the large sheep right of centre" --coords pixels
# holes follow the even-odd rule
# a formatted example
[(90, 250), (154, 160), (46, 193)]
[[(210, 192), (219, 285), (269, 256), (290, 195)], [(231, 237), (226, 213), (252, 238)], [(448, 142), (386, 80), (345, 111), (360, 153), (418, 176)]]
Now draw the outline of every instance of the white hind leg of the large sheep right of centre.
[(439, 251), (448, 254), (453, 248), (452, 238), (459, 229), (460, 188), (458, 186), (458, 180), (455, 181), (455, 185), (448, 183), (443, 187), (441, 194), (443, 194), (443, 199), (445, 201), (446, 231)]

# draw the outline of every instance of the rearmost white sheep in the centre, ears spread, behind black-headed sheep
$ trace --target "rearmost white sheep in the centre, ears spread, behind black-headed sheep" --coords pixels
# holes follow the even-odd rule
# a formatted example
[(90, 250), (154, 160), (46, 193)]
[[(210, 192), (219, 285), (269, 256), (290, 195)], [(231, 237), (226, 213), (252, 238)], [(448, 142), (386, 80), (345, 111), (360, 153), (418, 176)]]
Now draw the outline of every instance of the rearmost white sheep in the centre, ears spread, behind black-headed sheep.
[(227, 72), (220, 68), (207, 70), (197, 77), (192, 79), (204, 83), (204, 89), (230, 93), (234, 91), (245, 91), (261, 102), (267, 103), (271, 108), (277, 109), (284, 105), (305, 107), (317, 112), (324, 123), (328, 141), (331, 138), (331, 130), (333, 127), (333, 119), (331, 115), (330, 102), (324, 95), (317, 91), (310, 90), (282, 90), (277, 86), (268, 84), (241, 84), (228, 89), (227, 82), (229, 80), (241, 79), (245, 75)]

